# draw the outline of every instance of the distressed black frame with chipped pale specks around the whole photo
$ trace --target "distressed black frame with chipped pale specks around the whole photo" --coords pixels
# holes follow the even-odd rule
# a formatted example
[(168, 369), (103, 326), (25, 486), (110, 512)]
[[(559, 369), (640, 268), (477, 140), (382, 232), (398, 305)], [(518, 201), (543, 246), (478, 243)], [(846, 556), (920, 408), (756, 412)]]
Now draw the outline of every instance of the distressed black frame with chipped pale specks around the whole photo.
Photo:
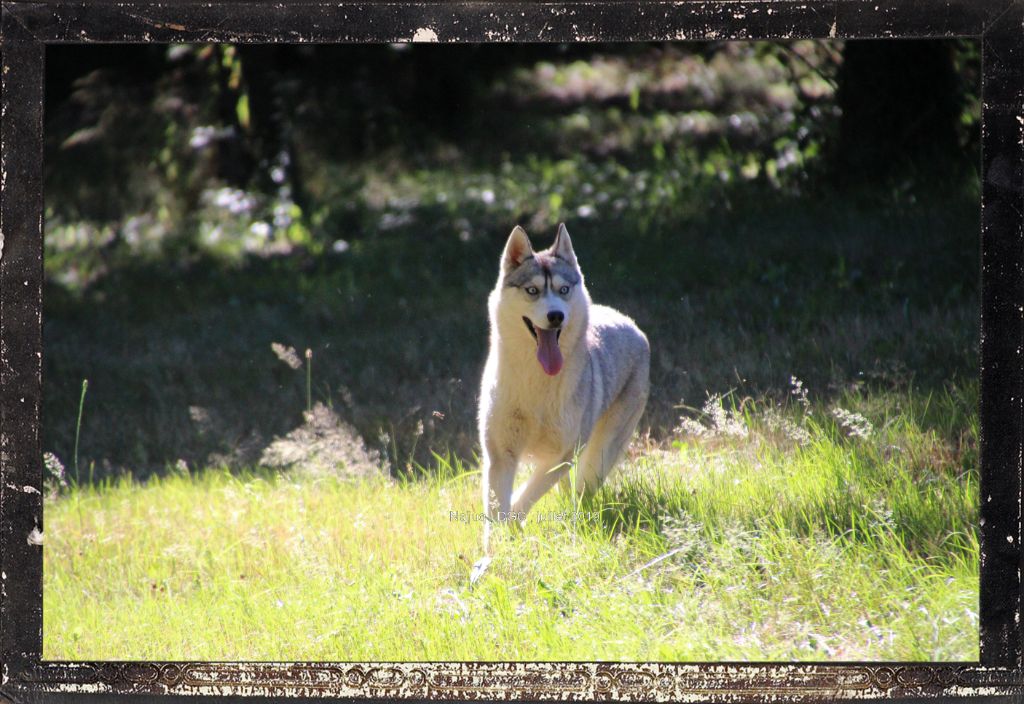
[[(41, 660), (47, 44), (934, 37), (975, 37), (982, 44), (979, 662)], [(0, 59), (0, 699), (63, 701), (75, 693), (721, 702), (1024, 697), (1024, 0), (4, 0)]]

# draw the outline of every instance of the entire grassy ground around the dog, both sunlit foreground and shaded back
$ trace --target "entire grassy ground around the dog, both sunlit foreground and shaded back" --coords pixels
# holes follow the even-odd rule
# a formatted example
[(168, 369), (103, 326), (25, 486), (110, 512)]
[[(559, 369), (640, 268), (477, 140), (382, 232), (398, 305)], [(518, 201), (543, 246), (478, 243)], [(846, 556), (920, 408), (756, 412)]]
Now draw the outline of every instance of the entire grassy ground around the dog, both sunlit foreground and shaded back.
[[(305, 211), (153, 169), (117, 222), (48, 201), (44, 657), (976, 659), (977, 178), (816, 182), (799, 50), (553, 51), (464, 141), (378, 116), (348, 161), (318, 96)], [(473, 575), (485, 298), (561, 220), (651, 396), (614, 481)]]

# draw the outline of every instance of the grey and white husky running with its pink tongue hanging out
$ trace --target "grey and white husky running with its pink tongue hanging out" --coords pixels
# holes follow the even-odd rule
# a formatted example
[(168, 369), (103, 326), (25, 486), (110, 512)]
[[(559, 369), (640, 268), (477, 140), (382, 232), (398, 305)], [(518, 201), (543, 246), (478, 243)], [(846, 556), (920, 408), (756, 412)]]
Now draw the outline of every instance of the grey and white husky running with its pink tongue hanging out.
[[(611, 472), (647, 402), (650, 347), (632, 319), (591, 303), (564, 224), (542, 252), (521, 227), (512, 230), (487, 307), (483, 513), (521, 520), (567, 477), (581, 448), (579, 491), (593, 492)], [(513, 494), (520, 461), (534, 472)]]

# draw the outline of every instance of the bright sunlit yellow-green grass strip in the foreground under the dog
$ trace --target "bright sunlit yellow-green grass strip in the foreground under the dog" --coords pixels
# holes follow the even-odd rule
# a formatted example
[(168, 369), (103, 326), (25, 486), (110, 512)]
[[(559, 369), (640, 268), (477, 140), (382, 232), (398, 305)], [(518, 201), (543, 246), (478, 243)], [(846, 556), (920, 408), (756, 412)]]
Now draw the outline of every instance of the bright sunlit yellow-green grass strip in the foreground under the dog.
[(47, 503), (44, 657), (975, 659), (975, 395), (849, 392), (866, 437), (831, 406), (726, 399), (593, 500), (499, 530), (475, 583), (458, 463), (72, 489)]

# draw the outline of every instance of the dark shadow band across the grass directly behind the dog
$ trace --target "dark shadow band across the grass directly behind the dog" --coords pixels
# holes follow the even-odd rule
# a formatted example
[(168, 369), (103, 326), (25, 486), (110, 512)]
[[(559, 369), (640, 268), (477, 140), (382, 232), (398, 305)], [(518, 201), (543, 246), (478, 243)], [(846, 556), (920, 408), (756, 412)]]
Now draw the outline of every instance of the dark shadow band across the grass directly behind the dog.
[[(791, 376), (824, 398), (976, 373), (968, 194), (863, 206), (736, 188), (707, 212), (628, 213), (568, 224), (594, 300), (651, 340), (641, 429), (655, 439), (680, 402), (781, 398)], [(88, 379), (80, 455), (94, 476), (251, 464), (306, 407), (305, 371), (275, 357), (281, 343), (311, 350), (311, 400), (393, 471), (434, 451), (468, 458), (486, 295), (512, 224), (481, 217), (467, 235), (423, 207), (340, 253), (128, 259), (81, 292), (49, 281), (44, 449), (70, 459)], [(530, 234), (543, 247), (552, 233)]]

